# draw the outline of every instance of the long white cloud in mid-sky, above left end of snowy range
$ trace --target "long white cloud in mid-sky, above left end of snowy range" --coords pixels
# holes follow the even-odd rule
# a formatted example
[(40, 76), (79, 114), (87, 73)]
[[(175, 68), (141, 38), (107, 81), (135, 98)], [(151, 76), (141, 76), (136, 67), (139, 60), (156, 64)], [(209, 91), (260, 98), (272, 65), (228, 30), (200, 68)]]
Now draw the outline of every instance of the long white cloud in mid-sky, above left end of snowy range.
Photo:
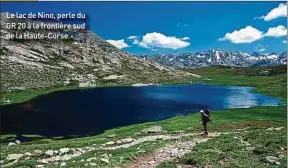
[(180, 38), (165, 36), (164, 34), (157, 32), (145, 34), (139, 42), (139, 46), (150, 49), (169, 48), (176, 50), (189, 45), (189, 42), (183, 41)]

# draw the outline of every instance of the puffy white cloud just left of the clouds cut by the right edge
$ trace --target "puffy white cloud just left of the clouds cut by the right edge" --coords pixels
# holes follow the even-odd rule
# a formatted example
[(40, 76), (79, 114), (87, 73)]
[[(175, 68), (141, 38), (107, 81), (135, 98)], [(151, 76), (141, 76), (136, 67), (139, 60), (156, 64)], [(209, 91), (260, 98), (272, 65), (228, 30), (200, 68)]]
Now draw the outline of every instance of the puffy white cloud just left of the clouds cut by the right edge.
[(247, 26), (240, 30), (234, 30), (232, 33), (226, 33), (224, 37), (219, 38), (219, 41), (231, 41), (232, 43), (252, 43), (256, 40), (261, 39), (263, 32), (255, 29), (252, 26)]

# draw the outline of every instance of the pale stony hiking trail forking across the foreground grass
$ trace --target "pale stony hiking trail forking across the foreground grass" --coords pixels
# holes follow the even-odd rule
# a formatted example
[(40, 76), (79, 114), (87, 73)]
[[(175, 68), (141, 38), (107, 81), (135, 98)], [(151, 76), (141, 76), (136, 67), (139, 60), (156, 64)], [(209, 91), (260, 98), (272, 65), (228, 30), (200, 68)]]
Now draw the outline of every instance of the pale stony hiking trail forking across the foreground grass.
[[(239, 132), (237, 130), (236, 132)], [(243, 131), (243, 130), (241, 130)], [(132, 146), (144, 143), (144, 142), (151, 142), (151, 141), (161, 141), (161, 140), (176, 140), (175, 143), (165, 146), (163, 148), (155, 150), (151, 154), (147, 154), (146, 156), (136, 158), (136, 160), (132, 161), (128, 165), (125, 165), (126, 168), (152, 168), (156, 167), (157, 164), (165, 161), (170, 160), (174, 158), (178, 158), (183, 156), (184, 154), (190, 152), (193, 147), (197, 143), (201, 143), (204, 141), (207, 141), (209, 139), (212, 139), (213, 137), (219, 136), (221, 134), (229, 134), (229, 133), (236, 133), (236, 132), (214, 132), (210, 133), (209, 136), (200, 136), (199, 133), (178, 133), (178, 134), (166, 134), (166, 135), (150, 135), (150, 136), (144, 136), (139, 137), (137, 139), (133, 138), (125, 138), (118, 140), (121, 143), (118, 142), (107, 142), (105, 144), (94, 144), (91, 146), (86, 146), (82, 148), (61, 148), (59, 150), (47, 150), (47, 151), (37, 151), (41, 154), (44, 154), (45, 157), (41, 157), (37, 160), (37, 163), (39, 164), (51, 164), (54, 162), (65, 162), (72, 158), (79, 157), (87, 152), (95, 151), (95, 150), (116, 150), (120, 148), (130, 148)], [(182, 138), (186, 137), (185, 139), (188, 139), (190, 137), (190, 140), (183, 140)], [(29, 153), (29, 152), (28, 152)], [(50, 154), (49, 154), (50, 153)], [(20, 154), (21, 157), (30, 157), (30, 156), (36, 156), (36, 150), (34, 153), (29, 153), (29, 156), (25, 154)], [(27, 156), (26, 156), (27, 155)], [(17, 163), (19, 159), (16, 159), (14, 162), (8, 163), (5, 166), (11, 166), (15, 163)]]

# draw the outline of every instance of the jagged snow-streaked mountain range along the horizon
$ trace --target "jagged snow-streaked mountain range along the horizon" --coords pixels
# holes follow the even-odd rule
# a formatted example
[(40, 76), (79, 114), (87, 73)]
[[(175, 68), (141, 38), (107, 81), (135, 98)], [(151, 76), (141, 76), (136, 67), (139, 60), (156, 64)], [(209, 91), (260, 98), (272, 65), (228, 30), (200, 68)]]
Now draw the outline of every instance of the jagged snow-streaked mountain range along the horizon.
[(239, 51), (224, 51), (211, 49), (206, 52), (181, 54), (138, 55), (143, 60), (151, 60), (160, 64), (177, 68), (199, 68), (213, 65), (227, 65), (239, 67), (271, 66), (287, 64), (287, 52), (281, 54), (260, 54), (254, 52), (249, 55)]

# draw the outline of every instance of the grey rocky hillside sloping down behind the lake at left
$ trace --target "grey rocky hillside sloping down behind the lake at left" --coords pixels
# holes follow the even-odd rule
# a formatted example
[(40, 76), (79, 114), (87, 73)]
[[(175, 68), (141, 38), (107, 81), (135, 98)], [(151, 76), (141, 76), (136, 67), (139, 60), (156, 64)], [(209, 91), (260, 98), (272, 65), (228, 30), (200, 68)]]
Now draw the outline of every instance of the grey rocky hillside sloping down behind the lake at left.
[[(4, 17), (5, 14), (1, 14)], [(40, 30), (73, 34), (69, 40), (7, 39), (1, 19), (1, 85), (4, 92), (59, 86), (93, 87), (191, 79), (190, 73), (123, 52), (86, 30)], [(34, 22), (21, 19), (21, 22)], [(39, 21), (37, 21), (39, 22)], [(35, 33), (37, 30), (23, 30)], [(21, 33), (23, 33), (21, 32)], [(141, 75), (139, 75), (141, 74)]]

